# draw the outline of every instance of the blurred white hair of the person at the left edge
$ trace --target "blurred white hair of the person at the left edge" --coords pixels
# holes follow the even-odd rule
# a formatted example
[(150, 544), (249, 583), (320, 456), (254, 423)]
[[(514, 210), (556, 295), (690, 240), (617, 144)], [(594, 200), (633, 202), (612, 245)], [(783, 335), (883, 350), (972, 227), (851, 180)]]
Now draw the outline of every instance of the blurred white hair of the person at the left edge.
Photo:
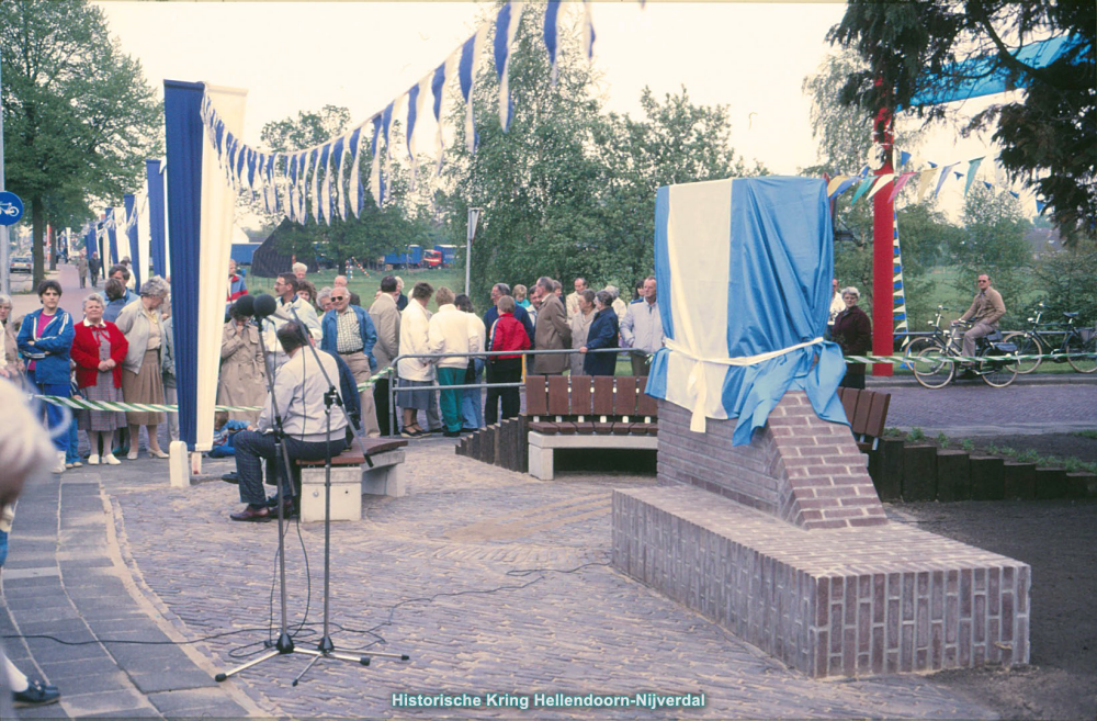
[(26, 405), (26, 396), (0, 379), (0, 504), (11, 503), (23, 484), (45, 474), (56, 458), (45, 428)]

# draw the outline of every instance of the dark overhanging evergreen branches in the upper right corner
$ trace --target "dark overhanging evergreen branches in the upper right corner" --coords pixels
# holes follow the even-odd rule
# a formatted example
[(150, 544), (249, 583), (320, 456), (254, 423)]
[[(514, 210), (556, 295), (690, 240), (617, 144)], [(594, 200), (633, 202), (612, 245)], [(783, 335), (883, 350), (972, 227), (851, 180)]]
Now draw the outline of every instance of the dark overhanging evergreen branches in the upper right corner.
[[(1014, 57), (1027, 42), (1070, 35), (1063, 57), (1044, 68)], [(1053, 0), (851, 0), (828, 38), (855, 47), (866, 68), (849, 75), (841, 102), (874, 112), (908, 108), (919, 92), (970, 78), (958, 68), (985, 58), (980, 75), (1005, 74), (1024, 100), (973, 117), (969, 131), (995, 126), (999, 160), (1048, 201), (1065, 239), (1097, 235), (1097, 5)], [(971, 67), (971, 66), (966, 66)], [(878, 82), (879, 81), (879, 82)], [(946, 108), (916, 108), (926, 123)], [(1042, 177), (1041, 177), (1042, 176)]]

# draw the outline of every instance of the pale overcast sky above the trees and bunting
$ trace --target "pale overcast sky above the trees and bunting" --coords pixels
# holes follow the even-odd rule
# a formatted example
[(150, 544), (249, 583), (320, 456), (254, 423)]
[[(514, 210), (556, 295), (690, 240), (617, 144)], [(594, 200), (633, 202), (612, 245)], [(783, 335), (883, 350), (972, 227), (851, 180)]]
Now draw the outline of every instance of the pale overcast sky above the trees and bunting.
[[(444, 1), (97, 4), (123, 50), (142, 63), (161, 93), (166, 78), (247, 89), (244, 139), (251, 145), (259, 144), (265, 123), (325, 104), (347, 106), (353, 124), (364, 122), (432, 72), (494, 7)], [(567, 4), (566, 12), (579, 12)], [(832, 52), (825, 35), (844, 11), (840, 2), (649, 0), (643, 8), (593, 2), (593, 64), (603, 75), (606, 108), (635, 116), (645, 86), (657, 98), (685, 86), (694, 103), (727, 105), (732, 145), (748, 164), (757, 159), (771, 172), (795, 173), (816, 161), (811, 103), (801, 85)], [(483, 61), (491, 63), (487, 55)], [(970, 104), (963, 114), (985, 103)], [(417, 131), (420, 151), (432, 149), (433, 134), (430, 124)], [(961, 138), (954, 128), (942, 127), (929, 133), (915, 155), (943, 165), (988, 153), (995, 150), (985, 137)], [(985, 178), (996, 180), (989, 161), (984, 167)], [(953, 214), (960, 192), (946, 190), (941, 202)]]

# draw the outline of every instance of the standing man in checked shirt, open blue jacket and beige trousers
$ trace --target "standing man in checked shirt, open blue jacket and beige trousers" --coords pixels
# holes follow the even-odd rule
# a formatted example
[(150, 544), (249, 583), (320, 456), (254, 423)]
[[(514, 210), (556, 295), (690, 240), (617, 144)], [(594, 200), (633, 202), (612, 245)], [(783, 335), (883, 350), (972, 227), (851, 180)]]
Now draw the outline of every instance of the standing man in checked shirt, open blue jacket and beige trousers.
[[(377, 331), (370, 314), (350, 303), (350, 291), (344, 285), (336, 285), (331, 291), (331, 308), (320, 320), (324, 335), (320, 349), (338, 354), (350, 367), (354, 381), (362, 385), (377, 368), (373, 357), (373, 346), (377, 342)], [(380, 438), (377, 409), (373, 402), (373, 388), (359, 391), (362, 413), (362, 430), (367, 438)]]

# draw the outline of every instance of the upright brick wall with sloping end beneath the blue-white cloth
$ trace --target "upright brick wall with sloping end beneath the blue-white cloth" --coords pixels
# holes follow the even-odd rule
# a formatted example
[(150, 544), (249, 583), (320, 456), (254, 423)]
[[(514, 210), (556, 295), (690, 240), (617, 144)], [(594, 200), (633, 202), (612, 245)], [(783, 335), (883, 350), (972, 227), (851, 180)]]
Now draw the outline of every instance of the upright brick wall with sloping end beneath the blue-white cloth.
[(815, 415), (802, 391), (784, 394), (749, 446), (734, 420), (689, 430), (689, 410), (659, 402), (660, 485), (715, 493), (804, 529), (880, 526), (880, 498), (848, 426)]

